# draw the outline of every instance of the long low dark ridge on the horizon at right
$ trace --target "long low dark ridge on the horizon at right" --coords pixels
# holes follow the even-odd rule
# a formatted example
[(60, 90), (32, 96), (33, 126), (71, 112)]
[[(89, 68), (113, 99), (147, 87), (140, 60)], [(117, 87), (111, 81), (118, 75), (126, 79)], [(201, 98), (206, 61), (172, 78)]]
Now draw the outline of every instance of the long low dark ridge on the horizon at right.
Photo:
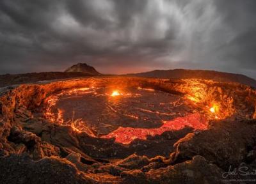
[(246, 75), (217, 72), (213, 70), (153, 70), (143, 73), (128, 74), (136, 77), (166, 78), (166, 79), (205, 79), (218, 82), (239, 82), (256, 88), (256, 81)]

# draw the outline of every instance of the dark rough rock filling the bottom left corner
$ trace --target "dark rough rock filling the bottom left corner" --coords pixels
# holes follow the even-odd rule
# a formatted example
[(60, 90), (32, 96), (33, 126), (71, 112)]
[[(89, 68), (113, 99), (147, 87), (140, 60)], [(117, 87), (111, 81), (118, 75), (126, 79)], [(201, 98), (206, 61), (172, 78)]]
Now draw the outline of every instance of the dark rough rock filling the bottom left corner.
[(77, 172), (65, 159), (45, 157), (37, 162), (26, 156), (0, 158), (0, 183), (96, 183)]

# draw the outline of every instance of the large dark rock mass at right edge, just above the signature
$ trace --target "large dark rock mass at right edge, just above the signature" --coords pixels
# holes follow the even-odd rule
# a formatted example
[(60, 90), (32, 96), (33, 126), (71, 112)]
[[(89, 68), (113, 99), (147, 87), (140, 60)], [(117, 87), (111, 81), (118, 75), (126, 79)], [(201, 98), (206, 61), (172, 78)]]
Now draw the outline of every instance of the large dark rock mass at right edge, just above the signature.
[(188, 134), (175, 143), (173, 162), (183, 162), (202, 155), (222, 169), (236, 167), (248, 155), (256, 140), (256, 120), (225, 120), (212, 122), (201, 134)]

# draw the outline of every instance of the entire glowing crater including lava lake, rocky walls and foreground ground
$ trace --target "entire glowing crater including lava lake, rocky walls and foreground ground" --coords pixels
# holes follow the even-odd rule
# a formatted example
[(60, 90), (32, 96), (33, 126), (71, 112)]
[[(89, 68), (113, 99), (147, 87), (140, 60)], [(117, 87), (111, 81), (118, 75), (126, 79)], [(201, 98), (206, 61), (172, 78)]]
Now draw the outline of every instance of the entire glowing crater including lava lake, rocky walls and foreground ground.
[(253, 180), (223, 175), (256, 167), (248, 86), (97, 77), (5, 88), (0, 100), (2, 183)]

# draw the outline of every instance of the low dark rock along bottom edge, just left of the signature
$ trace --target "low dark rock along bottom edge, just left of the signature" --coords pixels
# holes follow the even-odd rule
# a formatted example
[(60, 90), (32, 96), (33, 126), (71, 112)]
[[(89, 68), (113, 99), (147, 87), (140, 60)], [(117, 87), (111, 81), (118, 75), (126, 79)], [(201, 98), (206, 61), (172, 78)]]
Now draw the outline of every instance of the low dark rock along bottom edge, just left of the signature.
[(160, 169), (151, 169), (148, 173), (140, 170), (125, 171), (121, 174), (124, 183), (224, 183), (223, 171), (216, 165), (196, 156), (192, 160), (169, 165)]

